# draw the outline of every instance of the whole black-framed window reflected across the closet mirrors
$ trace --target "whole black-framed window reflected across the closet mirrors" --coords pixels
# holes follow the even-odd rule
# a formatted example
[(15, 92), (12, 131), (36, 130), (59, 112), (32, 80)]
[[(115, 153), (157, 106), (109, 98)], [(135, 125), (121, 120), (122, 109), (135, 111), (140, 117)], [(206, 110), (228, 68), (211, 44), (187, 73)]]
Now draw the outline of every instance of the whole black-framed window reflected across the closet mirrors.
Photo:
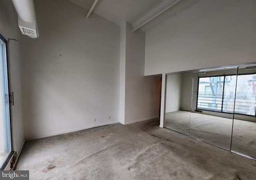
[(203, 77), (198, 82), (198, 109), (255, 116), (256, 74), (238, 75), (237, 85), (236, 75)]

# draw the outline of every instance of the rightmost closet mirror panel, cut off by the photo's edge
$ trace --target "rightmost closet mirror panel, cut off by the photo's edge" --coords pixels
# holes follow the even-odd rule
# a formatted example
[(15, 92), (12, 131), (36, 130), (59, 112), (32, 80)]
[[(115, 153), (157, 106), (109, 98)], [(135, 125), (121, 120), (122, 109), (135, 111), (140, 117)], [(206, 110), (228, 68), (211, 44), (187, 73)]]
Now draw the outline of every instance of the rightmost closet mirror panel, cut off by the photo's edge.
[(238, 68), (231, 150), (256, 158), (256, 70)]

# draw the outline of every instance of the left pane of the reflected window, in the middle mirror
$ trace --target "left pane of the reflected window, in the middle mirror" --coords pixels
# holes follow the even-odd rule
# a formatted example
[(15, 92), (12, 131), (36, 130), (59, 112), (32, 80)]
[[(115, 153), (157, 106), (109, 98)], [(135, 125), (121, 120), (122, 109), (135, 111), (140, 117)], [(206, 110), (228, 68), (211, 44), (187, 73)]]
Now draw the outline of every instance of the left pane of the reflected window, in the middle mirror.
[(224, 76), (199, 78), (198, 109), (221, 111)]

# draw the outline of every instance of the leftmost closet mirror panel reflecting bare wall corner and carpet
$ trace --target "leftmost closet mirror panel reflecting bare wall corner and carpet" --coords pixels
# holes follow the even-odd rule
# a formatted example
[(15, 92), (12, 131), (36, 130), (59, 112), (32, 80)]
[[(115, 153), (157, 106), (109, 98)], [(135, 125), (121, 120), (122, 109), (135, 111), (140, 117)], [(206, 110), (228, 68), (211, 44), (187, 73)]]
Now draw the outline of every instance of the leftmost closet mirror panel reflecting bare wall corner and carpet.
[(189, 135), (193, 73), (166, 76), (165, 128)]

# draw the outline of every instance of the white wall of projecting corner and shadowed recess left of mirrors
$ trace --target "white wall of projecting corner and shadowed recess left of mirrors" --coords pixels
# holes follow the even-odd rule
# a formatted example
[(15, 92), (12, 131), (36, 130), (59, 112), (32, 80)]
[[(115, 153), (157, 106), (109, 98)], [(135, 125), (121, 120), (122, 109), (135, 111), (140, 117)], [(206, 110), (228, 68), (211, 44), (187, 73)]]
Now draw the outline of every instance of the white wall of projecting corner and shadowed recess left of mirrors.
[(125, 124), (158, 117), (160, 104), (161, 76), (144, 76), (145, 32), (131, 29), (126, 23)]

